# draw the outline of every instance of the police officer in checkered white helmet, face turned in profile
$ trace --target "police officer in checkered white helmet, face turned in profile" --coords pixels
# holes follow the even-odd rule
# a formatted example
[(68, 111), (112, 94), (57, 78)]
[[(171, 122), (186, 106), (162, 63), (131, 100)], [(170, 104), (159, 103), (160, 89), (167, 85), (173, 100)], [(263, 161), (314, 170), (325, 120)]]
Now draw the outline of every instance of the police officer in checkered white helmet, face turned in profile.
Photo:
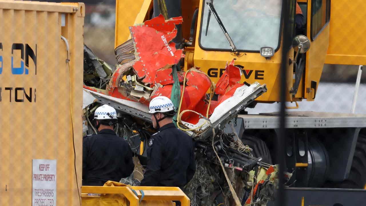
[(195, 173), (193, 141), (172, 123), (172, 101), (165, 96), (151, 100), (149, 113), (158, 130), (148, 141), (147, 168), (142, 186), (183, 187)]

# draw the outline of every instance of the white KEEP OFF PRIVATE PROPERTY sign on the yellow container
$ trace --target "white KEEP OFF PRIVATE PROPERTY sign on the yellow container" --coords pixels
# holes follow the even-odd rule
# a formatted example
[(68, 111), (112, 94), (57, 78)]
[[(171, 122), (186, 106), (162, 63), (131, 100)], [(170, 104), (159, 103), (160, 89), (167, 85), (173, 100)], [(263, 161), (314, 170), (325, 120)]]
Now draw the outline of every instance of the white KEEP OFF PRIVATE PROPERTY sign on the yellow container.
[(56, 160), (33, 159), (32, 206), (56, 206)]

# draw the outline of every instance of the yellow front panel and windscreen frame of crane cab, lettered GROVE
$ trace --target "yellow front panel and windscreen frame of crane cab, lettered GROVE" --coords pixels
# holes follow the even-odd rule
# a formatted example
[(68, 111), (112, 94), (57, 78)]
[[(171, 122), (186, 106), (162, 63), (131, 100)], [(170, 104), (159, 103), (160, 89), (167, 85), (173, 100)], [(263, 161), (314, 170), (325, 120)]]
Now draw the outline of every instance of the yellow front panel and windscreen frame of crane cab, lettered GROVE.
[[(200, 5), (203, 4), (202, 1), (203, 0), (201, 0)], [(198, 19), (201, 19), (201, 14), (202, 7), (199, 8)], [(197, 33), (199, 33), (200, 27), (201, 21), (198, 21)], [(240, 82), (246, 81), (250, 84), (257, 81), (260, 84), (267, 85), (268, 91), (259, 96), (256, 100), (260, 102), (274, 102), (280, 100), (280, 65), (282, 47), (280, 47), (279, 50), (275, 52), (274, 56), (272, 56), (270, 60), (267, 60), (259, 53), (242, 52), (242, 56), (238, 57), (227, 51), (205, 51), (199, 47), (198, 41), (199, 35), (196, 36), (195, 41), (194, 65), (200, 67), (200, 70), (208, 73), (209, 76), (214, 76), (211, 78), (214, 82), (219, 80), (220, 73), (222, 74), (224, 72), (226, 63), (236, 58), (235, 65), (242, 65), (244, 67), (244, 72), (247, 72), (247, 74), (251, 73), (250, 76), (247, 75), (249, 78), (246, 78), (243, 75)], [(292, 49), (290, 50), (288, 57), (293, 59)], [(292, 64), (289, 65), (287, 69), (287, 91), (290, 91), (292, 87), (292, 66)], [(263, 76), (259, 75), (257, 76), (259, 78), (255, 78), (255, 72), (263, 74)], [(302, 89), (301, 85), (300, 89)], [(291, 98), (292, 97), (290, 96), (290, 93), (288, 93), (287, 101), (291, 101)]]

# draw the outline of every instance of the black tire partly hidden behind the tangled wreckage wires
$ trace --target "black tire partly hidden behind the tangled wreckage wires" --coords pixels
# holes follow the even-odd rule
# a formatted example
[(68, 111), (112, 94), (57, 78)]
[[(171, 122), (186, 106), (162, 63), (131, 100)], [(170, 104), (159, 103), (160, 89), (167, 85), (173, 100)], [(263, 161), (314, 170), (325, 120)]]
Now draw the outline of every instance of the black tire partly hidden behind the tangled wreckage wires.
[(243, 135), (242, 142), (248, 145), (253, 150), (251, 151), (254, 157), (261, 157), (262, 162), (272, 164), (272, 158), (266, 143), (258, 137), (251, 135)]

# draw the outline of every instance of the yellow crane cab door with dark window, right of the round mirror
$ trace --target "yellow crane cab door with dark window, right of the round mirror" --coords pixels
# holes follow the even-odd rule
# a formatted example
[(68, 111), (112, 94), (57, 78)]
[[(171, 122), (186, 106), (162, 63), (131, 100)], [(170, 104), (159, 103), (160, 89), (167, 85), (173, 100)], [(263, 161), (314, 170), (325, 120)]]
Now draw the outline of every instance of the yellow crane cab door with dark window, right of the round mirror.
[[(333, 1), (332, 1), (333, 2)], [(311, 47), (306, 53), (304, 98), (313, 101), (329, 45), (330, 0), (307, 1), (306, 36)]]

